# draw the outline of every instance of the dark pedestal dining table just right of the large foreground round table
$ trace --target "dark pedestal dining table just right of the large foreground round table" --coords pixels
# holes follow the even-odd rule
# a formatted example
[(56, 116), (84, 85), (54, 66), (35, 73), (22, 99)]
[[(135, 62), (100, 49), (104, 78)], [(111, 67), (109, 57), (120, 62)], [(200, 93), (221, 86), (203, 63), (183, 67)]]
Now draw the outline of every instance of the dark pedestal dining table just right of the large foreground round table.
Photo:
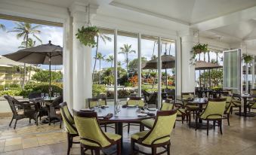
[[(193, 101), (188, 102), (190, 105), (199, 105), (199, 112), (202, 112), (202, 106), (208, 103), (207, 98), (196, 98)], [(191, 122), (190, 126), (196, 128), (196, 122)], [(199, 119), (199, 123), (197, 126), (198, 129), (206, 129), (206, 123), (203, 123), (201, 119)]]

